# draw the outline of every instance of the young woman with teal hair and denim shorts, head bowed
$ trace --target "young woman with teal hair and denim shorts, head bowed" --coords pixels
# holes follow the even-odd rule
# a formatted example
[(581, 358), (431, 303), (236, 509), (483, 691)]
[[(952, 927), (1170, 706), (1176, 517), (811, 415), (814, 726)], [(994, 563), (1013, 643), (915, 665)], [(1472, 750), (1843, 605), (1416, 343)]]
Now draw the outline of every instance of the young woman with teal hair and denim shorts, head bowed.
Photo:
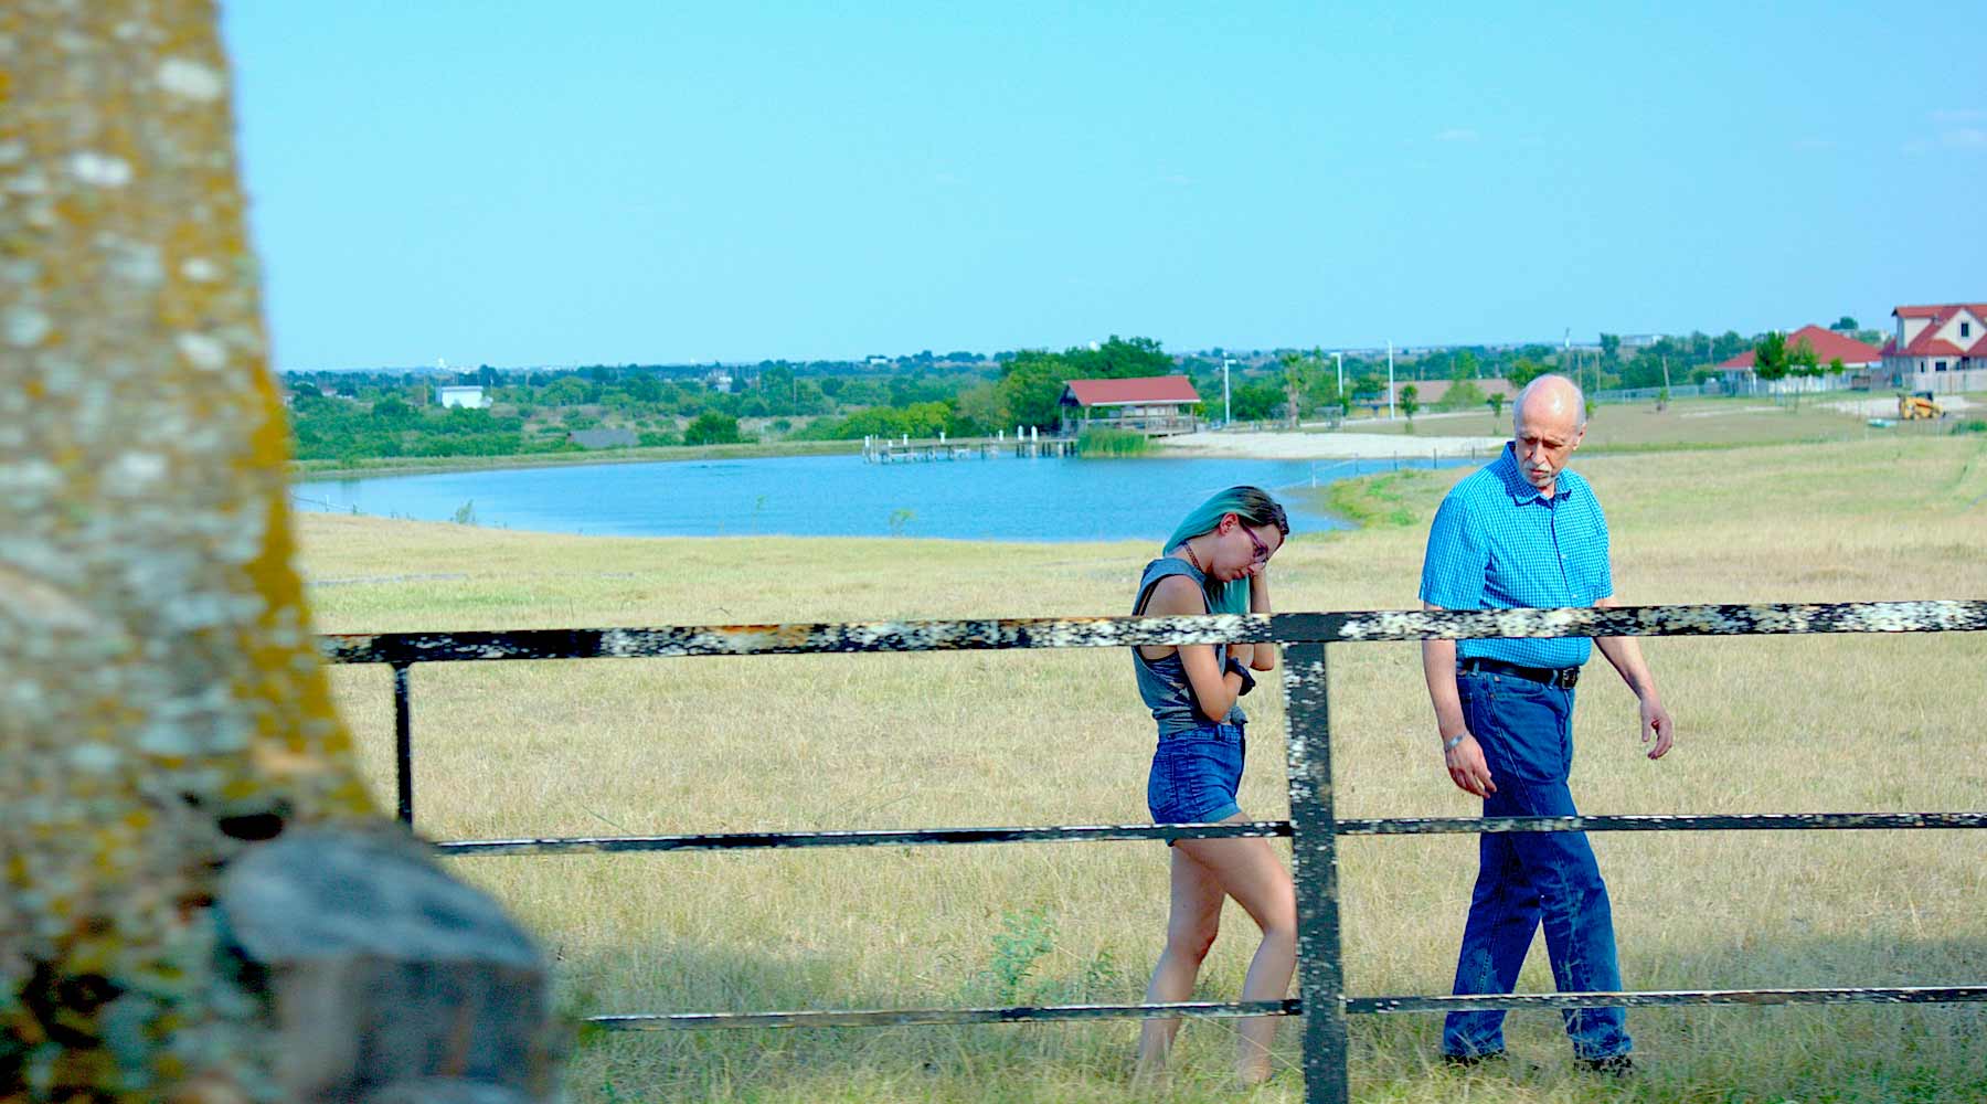
[[(1139, 580), (1133, 614), (1268, 614), (1270, 558), (1290, 536), (1290, 520), (1256, 486), (1230, 486), (1200, 504)], [(1146, 806), (1160, 824), (1248, 820), (1236, 806), (1242, 780), (1244, 715), (1252, 671), (1276, 669), (1276, 645), (1210, 643), (1133, 649), (1139, 695), (1158, 723), (1158, 751), (1146, 778)], [(1152, 969), (1146, 1003), (1186, 1001), (1194, 975), (1234, 897), (1262, 927), (1262, 945), (1242, 983), (1244, 1001), (1282, 1001), (1298, 963), (1298, 899), (1290, 872), (1268, 840), (1174, 840), (1166, 949)], [(1139, 1035), (1139, 1074), (1158, 1074), (1180, 1031), (1178, 1019), (1148, 1019)], [(1242, 1021), (1236, 1074), (1244, 1084), (1270, 1076), (1274, 1017)]]

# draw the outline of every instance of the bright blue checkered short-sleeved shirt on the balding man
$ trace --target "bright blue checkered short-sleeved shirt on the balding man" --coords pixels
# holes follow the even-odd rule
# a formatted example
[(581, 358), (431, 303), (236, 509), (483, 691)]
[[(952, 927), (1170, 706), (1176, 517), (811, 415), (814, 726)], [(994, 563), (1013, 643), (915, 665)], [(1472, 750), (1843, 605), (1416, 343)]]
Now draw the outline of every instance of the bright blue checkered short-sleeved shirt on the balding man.
[[(1538, 494), (1510, 445), (1449, 490), (1429, 526), (1421, 600), (1445, 610), (1594, 606), (1613, 596), (1607, 518), (1588, 481), (1562, 471), (1552, 498)], [(1526, 667), (1578, 667), (1588, 637), (1458, 639), (1456, 657)]]

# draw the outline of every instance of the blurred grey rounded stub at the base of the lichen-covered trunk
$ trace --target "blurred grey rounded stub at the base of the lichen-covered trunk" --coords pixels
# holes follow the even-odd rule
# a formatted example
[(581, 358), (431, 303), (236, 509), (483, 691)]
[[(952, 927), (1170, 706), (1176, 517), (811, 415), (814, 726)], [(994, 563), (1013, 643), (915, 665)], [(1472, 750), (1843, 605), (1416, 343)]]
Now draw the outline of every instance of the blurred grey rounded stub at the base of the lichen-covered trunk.
[(531, 937), (397, 826), (300, 828), (252, 848), (229, 864), (219, 911), (268, 975), (286, 1098), (550, 1092), (548, 979)]

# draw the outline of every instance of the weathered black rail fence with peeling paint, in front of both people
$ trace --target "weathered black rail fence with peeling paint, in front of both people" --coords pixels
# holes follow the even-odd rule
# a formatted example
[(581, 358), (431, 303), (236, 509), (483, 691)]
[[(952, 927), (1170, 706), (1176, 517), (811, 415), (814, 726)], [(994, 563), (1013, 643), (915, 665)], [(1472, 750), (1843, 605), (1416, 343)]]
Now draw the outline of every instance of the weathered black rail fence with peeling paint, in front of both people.
[(1888, 989), (1693, 989), (1621, 993), (1349, 997), (1339, 957), (1337, 842), (1341, 836), (1435, 832), (1651, 832), (1987, 828), (1987, 812), (1840, 812), (1743, 816), (1437, 816), (1339, 820), (1331, 786), (1331, 643), (1470, 637), (1755, 635), (1987, 631), (1987, 602), (1868, 602), (1832, 606), (1623, 606), (1609, 610), (1252, 614), (1210, 618), (1081, 618), (900, 621), (854, 625), (723, 625), (662, 629), (538, 629), (491, 633), (328, 635), (332, 663), (393, 669), (399, 818), (413, 822), (409, 671), (415, 663), (493, 659), (604, 659), (697, 655), (795, 655), (852, 651), (954, 651), (1009, 647), (1131, 647), (1141, 643), (1276, 641), (1284, 649), (1290, 723), (1290, 820), (1248, 824), (1077, 824), (1021, 828), (912, 828), (827, 832), (723, 832), (455, 840), (443, 854), (682, 852), (741, 848), (1003, 844), (1041, 840), (1160, 840), (1290, 836), (1296, 856), (1299, 997), (1296, 1001), (1188, 1001), (1168, 1005), (1059, 1005), (1015, 1009), (886, 1009), (795, 1013), (656, 1013), (592, 1017), (610, 1031), (719, 1027), (878, 1027), (1135, 1017), (1303, 1017), (1305, 1100), (1349, 1098), (1347, 1015), (1464, 1009), (1592, 1009), (1647, 1005), (1959, 1003), (1987, 1001), (1987, 985)]

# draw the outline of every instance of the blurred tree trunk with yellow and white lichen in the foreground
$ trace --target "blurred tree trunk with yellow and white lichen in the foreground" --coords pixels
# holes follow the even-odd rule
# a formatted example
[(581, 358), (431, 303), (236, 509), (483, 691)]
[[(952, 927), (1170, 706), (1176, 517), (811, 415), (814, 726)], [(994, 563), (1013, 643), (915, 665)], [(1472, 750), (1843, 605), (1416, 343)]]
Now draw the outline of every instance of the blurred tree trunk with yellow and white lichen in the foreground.
[(215, 24), (209, 0), (0, 4), (8, 1100), (294, 1096), (254, 981), (288, 965), (242, 969), (221, 874), (298, 824), (318, 854), (385, 824), (290, 562)]

